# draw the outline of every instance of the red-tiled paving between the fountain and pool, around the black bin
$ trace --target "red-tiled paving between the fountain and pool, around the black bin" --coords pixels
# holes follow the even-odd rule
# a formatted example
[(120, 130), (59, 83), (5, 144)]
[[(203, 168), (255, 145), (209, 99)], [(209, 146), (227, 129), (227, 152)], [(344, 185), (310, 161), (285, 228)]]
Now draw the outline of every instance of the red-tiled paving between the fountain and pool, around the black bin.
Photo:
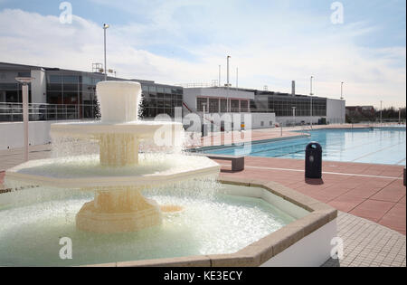
[(403, 166), (323, 162), (322, 179), (305, 179), (304, 161), (297, 159), (246, 157), (245, 169), (236, 173), (224, 161), (218, 163), (221, 176), (275, 181), (339, 211), (406, 233)]

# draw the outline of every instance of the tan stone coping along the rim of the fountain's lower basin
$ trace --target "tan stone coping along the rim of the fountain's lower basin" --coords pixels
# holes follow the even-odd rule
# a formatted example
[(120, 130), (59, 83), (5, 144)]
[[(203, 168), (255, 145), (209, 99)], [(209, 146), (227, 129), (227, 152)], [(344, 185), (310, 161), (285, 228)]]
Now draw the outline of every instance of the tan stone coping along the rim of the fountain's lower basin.
[(284, 252), (291, 245), (316, 232), (327, 223), (331, 223), (337, 217), (335, 208), (275, 182), (233, 177), (220, 177), (218, 181), (222, 184), (263, 188), (271, 194), (278, 195), (307, 210), (309, 214), (270, 233), (259, 241), (251, 243), (239, 252), (143, 261), (118, 261), (81, 265), (81, 267), (256, 267), (270, 261), (274, 256)]

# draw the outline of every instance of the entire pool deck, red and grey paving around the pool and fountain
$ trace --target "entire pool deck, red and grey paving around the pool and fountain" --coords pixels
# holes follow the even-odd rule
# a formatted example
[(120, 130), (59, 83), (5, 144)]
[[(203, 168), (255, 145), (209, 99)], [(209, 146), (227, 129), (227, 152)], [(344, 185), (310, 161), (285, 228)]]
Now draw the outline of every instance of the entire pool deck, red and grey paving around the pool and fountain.
[[(354, 126), (368, 127), (371, 126)], [(328, 128), (352, 126), (336, 125)], [(251, 137), (239, 139), (239, 136), (235, 136), (233, 143), (247, 139), (255, 141), (298, 136), (298, 133), (290, 131), (294, 129), (302, 128), (284, 128), (282, 137), (279, 128), (255, 130), (251, 132)], [(214, 136), (223, 138), (220, 134)], [(202, 140), (201, 147), (206, 146), (207, 142)], [(51, 155), (50, 145), (30, 149), (30, 159)], [(0, 150), (0, 190), (5, 169), (22, 162), (23, 149)], [(345, 257), (341, 261), (327, 261), (325, 266), (406, 266), (406, 187), (402, 185), (404, 166), (325, 161), (322, 179), (305, 179), (303, 160), (246, 157), (245, 169), (234, 173), (227, 162), (218, 163), (222, 165), (221, 176), (274, 181), (339, 210), (338, 236), (344, 239)]]

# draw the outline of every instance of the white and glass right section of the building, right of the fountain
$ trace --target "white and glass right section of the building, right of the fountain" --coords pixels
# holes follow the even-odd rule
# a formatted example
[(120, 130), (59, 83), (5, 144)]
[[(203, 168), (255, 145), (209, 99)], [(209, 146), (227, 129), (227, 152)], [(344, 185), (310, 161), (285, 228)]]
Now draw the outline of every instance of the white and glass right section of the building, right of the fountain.
[(250, 112), (253, 116), (274, 113), (276, 122), (283, 125), (308, 124), (311, 119), (314, 124), (345, 122), (345, 100), (297, 95), (295, 90), (289, 94), (227, 87), (185, 88), (184, 102), (186, 109), (198, 113), (204, 109), (207, 113)]

